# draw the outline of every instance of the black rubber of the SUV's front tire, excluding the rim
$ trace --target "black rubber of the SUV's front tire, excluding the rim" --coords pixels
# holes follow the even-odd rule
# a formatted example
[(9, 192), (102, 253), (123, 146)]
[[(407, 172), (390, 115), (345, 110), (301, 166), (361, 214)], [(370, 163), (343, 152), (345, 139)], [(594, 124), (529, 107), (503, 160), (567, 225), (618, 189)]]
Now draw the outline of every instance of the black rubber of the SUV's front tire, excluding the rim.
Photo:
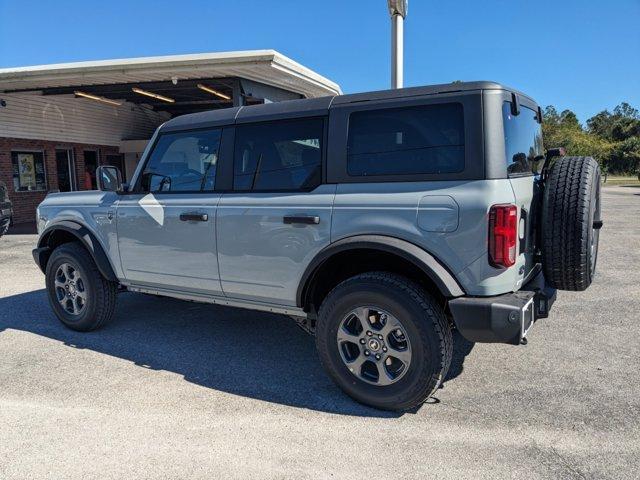
[[(68, 263), (80, 271), (86, 283), (87, 302), (79, 315), (71, 315), (61, 307), (55, 292), (55, 274), (60, 265)], [(116, 305), (117, 284), (106, 280), (89, 252), (79, 243), (65, 243), (57, 247), (46, 268), (47, 294), (51, 308), (60, 321), (72, 330), (89, 332), (108, 322)]]

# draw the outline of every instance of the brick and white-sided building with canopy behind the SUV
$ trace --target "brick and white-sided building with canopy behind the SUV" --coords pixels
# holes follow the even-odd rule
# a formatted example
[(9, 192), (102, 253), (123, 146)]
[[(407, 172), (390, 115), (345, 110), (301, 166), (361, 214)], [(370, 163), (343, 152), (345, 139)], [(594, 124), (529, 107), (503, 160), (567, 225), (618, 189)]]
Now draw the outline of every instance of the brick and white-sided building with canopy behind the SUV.
[(172, 117), (339, 93), (273, 50), (0, 69), (0, 181), (14, 223), (32, 222), (47, 192), (94, 189), (99, 165), (131, 178)]

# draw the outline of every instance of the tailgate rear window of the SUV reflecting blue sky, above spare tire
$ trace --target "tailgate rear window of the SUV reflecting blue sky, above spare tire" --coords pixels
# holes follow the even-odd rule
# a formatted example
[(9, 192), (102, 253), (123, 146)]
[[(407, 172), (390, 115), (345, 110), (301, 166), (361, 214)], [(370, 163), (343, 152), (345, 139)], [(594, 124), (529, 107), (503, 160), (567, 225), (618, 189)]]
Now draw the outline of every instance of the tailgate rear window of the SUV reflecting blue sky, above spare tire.
[(502, 121), (507, 173), (511, 176), (539, 173), (544, 160), (544, 148), (538, 114), (522, 105), (520, 114), (513, 115), (511, 102), (504, 102)]

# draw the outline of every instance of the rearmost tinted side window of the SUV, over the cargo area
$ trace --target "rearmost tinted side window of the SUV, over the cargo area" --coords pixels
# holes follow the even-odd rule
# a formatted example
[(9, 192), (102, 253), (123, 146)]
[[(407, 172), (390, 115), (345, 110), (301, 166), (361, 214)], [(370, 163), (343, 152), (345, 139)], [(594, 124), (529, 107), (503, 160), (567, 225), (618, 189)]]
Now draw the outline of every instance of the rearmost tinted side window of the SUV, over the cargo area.
[(351, 176), (462, 172), (462, 105), (445, 103), (352, 113), (347, 148), (347, 171)]

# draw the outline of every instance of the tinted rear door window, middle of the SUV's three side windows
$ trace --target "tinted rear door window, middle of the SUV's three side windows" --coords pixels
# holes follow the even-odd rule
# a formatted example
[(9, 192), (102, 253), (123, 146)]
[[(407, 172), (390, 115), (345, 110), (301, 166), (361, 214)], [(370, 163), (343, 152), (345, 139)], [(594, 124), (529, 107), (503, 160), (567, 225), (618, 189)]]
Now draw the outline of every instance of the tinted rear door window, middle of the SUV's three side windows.
[(318, 186), (323, 129), (322, 118), (236, 127), (234, 190), (296, 191)]

